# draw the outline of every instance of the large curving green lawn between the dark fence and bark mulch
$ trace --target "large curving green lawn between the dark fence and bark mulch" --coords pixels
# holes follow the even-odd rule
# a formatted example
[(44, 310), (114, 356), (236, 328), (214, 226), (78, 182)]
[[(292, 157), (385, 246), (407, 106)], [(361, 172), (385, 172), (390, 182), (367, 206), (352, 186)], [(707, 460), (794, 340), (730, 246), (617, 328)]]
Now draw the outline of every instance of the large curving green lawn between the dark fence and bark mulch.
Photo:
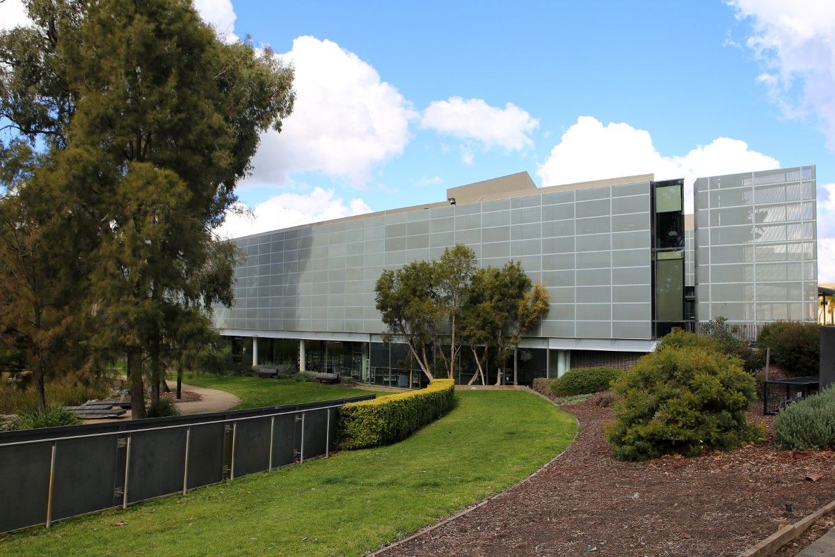
[(572, 416), (527, 392), (456, 397), (401, 443), (13, 534), (0, 554), (359, 555), (519, 482), (574, 437)]

